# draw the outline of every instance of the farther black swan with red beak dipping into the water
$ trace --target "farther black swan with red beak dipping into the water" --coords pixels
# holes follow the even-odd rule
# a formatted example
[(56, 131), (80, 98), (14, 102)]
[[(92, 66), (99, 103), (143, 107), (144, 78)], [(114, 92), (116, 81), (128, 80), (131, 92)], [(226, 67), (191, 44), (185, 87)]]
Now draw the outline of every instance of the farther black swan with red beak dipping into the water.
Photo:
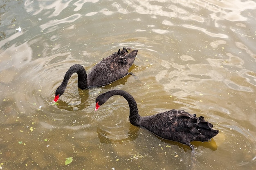
[(130, 48), (126, 49), (124, 47), (123, 50), (119, 49), (118, 52), (115, 52), (106, 57), (106, 59), (104, 58), (101, 62), (98, 62), (88, 75), (83, 66), (79, 64), (71, 66), (65, 74), (63, 82), (55, 92), (54, 102), (57, 102), (59, 97), (63, 95), (68, 80), (73, 73), (77, 73), (77, 86), (81, 89), (110, 84), (129, 74), (129, 68), (132, 66), (137, 53), (138, 50), (131, 51)]

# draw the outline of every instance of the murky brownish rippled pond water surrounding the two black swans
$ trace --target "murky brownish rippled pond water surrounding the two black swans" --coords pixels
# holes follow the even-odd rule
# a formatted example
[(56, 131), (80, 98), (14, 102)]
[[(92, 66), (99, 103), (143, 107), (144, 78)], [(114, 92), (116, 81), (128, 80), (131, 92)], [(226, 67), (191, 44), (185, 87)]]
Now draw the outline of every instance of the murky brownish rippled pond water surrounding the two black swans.
[[(254, 169), (255, 9), (252, 0), (2, 0), (1, 168)], [(133, 75), (88, 90), (73, 75), (53, 105), (70, 66), (90, 71), (123, 46), (139, 50)], [(94, 112), (111, 89), (129, 92), (142, 116), (184, 109), (220, 133), (192, 153), (132, 126), (122, 97)]]

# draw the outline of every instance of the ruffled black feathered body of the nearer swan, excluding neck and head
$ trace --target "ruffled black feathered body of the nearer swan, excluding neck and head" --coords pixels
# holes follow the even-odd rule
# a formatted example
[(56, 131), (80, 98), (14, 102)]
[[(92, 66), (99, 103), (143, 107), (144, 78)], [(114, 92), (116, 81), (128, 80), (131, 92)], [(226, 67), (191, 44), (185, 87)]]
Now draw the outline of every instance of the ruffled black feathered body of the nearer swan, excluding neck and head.
[(209, 141), (218, 134), (213, 125), (184, 110), (169, 110), (153, 116), (141, 117), (141, 126), (164, 139), (178, 141), (190, 147), (191, 141)]

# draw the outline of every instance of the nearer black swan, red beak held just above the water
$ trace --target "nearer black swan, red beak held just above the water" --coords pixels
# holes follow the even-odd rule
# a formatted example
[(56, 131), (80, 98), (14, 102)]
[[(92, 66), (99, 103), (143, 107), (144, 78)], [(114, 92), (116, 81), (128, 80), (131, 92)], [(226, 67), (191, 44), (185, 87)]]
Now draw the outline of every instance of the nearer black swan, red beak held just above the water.
[(135, 126), (143, 126), (155, 135), (164, 139), (178, 141), (194, 150), (191, 141), (209, 141), (218, 134), (219, 130), (213, 130), (213, 125), (204, 120), (204, 117), (196, 117), (184, 110), (169, 110), (152, 116), (141, 117), (135, 99), (121, 90), (112, 90), (99, 95), (96, 98), (95, 110), (104, 104), (111, 96), (123, 96), (130, 107), (130, 123)]

